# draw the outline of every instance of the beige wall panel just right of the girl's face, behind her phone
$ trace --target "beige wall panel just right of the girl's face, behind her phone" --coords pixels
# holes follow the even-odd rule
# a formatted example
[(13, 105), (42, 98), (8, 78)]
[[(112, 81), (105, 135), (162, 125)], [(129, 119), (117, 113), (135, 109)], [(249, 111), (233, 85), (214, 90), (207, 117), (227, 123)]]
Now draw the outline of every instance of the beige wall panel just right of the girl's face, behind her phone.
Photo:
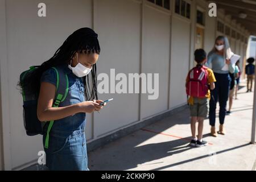
[[(113, 68), (115, 75), (139, 73), (141, 3), (96, 0), (94, 7), (94, 29), (99, 34), (102, 48), (97, 72), (110, 76), (110, 69)], [(99, 97), (114, 100), (100, 114), (94, 113), (94, 139), (139, 121), (139, 94), (113, 93), (100, 94)], [(127, 107), (129, 109), (125, 109)]]

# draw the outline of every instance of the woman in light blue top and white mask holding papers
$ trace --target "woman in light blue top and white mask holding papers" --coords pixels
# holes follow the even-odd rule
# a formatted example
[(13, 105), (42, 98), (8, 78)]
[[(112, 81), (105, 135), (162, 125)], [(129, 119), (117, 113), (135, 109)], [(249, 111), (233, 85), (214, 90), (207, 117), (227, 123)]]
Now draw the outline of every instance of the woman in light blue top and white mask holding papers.
[[(225, 36), (218, 36), (215, 40), (215, 45), (212, 51), (208, 54), (207, 65), (212, 64), (212, 70), (214, 76), (216, 77), (215, 89), (212, 90), (212, 98), (210, 99), (209, 107), (209, 120), (210, 120), (210, 134), (213, 137), (217, 137), (218, 134), (225, 135), (226, 131), (224, 130), (224, 120), (226, 115), (226, 102), (229, 97), (229, 88), (231, 78), (230, 73), (234, 73), (235, 65), (232, 65), (230, 62), (230, 57), (233, 55), (233, 52), (230, 49), (228, 38)], [(222, 69), (225, 64), (228, 64), (228, 70)], [(217, 102), (220, 104), (220, 127), (218, 134), (215, 129), (215, 119), (216, 119), (216, 105)]]

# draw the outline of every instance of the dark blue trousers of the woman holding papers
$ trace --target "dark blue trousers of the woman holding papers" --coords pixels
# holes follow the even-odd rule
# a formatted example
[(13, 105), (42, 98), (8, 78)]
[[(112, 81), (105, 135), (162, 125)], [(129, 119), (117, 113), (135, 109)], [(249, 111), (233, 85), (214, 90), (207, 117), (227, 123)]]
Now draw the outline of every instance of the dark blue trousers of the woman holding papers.
[(215, 89), (211, 91), (211, 98), (210, 98), (210, 108), (209, 108), (209, 120), (210, 126), (215, 126), (215, 119), (216, 119), (216, 105), (217, 102), (220, 104), (220, 124), (224, 124), (224, 119), (226, 115), (226, 102), (229, 98), (229, 89), (230, 89), (230, 81), (231, 78), (229, 73), (220, 74), (214, 73), (216, 77), (215, 82)]

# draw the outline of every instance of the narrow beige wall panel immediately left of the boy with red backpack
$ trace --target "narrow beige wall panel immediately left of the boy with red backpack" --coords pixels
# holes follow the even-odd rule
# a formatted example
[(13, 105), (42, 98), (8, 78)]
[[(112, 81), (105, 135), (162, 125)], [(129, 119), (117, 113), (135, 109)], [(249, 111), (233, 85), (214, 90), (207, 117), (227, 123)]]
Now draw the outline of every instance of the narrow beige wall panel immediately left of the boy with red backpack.
[[(185, 94), (185, 78), (189, 70), (189, 40), (191, 23), (174, 15), (172, 18), (171, 36), (171, 80), (170, 80), (170, 108), (187, 102)], [(175, 52), (175, 53), (174, 53)]]

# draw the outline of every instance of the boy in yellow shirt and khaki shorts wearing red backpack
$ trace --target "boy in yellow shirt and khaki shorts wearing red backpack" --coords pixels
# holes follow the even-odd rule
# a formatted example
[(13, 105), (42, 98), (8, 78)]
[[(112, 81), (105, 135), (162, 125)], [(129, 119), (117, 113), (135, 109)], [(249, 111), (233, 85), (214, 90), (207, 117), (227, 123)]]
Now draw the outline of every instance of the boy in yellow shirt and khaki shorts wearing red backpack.
[[(192, 140), (190, 145), (203, 147), (207, 145), (207, 142), (203, 140), (203, 122), (208, 114), (207, 100), (210, 100), (210, 90), (215, 88), (216, 79), (212, 69), (204, 66), (207, 61), (207, 53), (204, 49), (196, 49), (194, 55), (197, 65), (188, 72), (185, 85), (191, 113)], [(196, 122), (199, 122), (197, 138)]]

